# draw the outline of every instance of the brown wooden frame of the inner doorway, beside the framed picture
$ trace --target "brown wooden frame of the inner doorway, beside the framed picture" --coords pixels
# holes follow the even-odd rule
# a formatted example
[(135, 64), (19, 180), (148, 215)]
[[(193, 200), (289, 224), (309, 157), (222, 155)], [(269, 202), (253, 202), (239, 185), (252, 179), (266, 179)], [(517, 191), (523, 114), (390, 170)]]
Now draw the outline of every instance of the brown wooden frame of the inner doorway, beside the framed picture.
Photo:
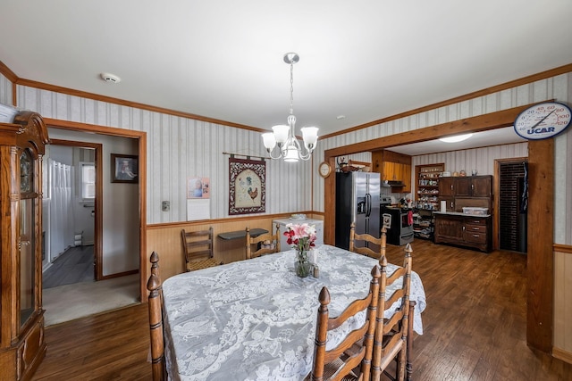
[(73, 140), (62, 140), (62, 139), (50, 139), (49, 145), (63, 145), (68, 147), (79, 147), (93, 149), (96, 152), (96, 199), (94, 200), (94, 209), (96, 211), (96, 216), (94, 220), (94, 231), (93, 231), (93, 254), (94, 254), (94, 269), (93, 277), (94, 279), (101, 280), (103, 278), (103, 208), (104, 204), (104, 187), (103, 187), (103, 167), (102, 167), (102, 157), (103, 157), (103, 145), (98, 143), (87, 143), (78, 142)]

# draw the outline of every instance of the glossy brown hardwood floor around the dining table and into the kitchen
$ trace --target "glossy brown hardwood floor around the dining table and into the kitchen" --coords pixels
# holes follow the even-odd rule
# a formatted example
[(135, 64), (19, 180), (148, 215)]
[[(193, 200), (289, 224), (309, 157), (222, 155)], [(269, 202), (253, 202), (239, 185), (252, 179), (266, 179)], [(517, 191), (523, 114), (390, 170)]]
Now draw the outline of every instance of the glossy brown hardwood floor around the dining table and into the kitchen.
[[(526, 256), (416, 240), (413, 269), (427, 297), (415, 335), (416, 380), (572, 380), (572, 365), (526, 346)], [(388, 258), (402, 261), (403, 247)], [(141, 304), (46, 329), (36, 380), (146, 380), (149, 331)]]

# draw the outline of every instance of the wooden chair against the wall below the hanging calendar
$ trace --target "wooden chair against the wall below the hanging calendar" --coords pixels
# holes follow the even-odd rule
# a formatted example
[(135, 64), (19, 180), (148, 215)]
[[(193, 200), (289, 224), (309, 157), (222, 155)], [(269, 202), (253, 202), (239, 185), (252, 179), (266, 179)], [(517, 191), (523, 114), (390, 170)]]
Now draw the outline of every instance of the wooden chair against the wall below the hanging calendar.
[(214, 259), (213, 228), (200, 231), (181, 230), (183, 255), (185, 256), (185, 270), (206, 269), (222, 265), (223, 261)]

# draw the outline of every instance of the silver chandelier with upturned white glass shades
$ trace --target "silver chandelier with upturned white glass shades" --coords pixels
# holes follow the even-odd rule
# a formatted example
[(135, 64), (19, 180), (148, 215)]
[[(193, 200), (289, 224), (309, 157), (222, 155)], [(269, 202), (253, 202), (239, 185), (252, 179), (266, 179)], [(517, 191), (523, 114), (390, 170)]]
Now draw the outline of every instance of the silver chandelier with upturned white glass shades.
[[(283, 158), (284, 162), (298, 162), (299, 159), (308, 160), (312, 156), (318, 140), (317, 127), (300, 128), (304, 149), (294, 135), (296, 132), (296, 117), (294, 116), (294, 63), (299, 62), (296, 53), (284, 54), (284, 62), (290, 64), (290, 115), (288, 125), (274, 126), (273, 132), (262, 134), (266, 151), (272, 159)], [(274, 147), (278, 145), (278, 152), (274, 155)]]

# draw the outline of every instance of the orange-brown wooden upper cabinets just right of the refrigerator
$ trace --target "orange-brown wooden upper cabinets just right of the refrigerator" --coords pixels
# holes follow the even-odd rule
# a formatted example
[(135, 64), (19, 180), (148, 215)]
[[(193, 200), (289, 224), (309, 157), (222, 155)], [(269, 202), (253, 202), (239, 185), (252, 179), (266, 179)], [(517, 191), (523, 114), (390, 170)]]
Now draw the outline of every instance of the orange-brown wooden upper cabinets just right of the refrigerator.
[(411, 156), (388, 150), (372, 152), (374, 172), (391, 185), (391, 192), (411, 192)]

